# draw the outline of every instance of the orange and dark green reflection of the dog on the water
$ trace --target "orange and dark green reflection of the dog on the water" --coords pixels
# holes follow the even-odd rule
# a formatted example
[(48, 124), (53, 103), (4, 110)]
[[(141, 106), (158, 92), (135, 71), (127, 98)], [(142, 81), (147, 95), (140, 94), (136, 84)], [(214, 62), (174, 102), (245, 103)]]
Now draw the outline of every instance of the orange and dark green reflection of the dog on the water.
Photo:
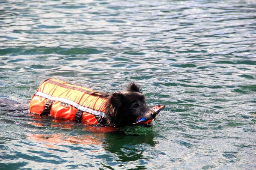
[[(113, 153), (116, 156), (115, 161), (130, 162), (144, 159), (143, 153), (146, 146), (155, 146), (154, 133), (151, 128), (134, 126), (116, 129), (110, 126), (86, 126), (53, 118), (43, 120), (42, 117), (34, 114), (30, 116), (32, 116), (28, 122), (30, 125), (52, 129), (49, 134), (41, 131), (40, 134), (30, 133), (28, 137), (31, 140), (43, 142), (51, 148), (58, 147), (56, 144), (96, 144)], [(97, 148), (94, 151), (97, 151)]]

